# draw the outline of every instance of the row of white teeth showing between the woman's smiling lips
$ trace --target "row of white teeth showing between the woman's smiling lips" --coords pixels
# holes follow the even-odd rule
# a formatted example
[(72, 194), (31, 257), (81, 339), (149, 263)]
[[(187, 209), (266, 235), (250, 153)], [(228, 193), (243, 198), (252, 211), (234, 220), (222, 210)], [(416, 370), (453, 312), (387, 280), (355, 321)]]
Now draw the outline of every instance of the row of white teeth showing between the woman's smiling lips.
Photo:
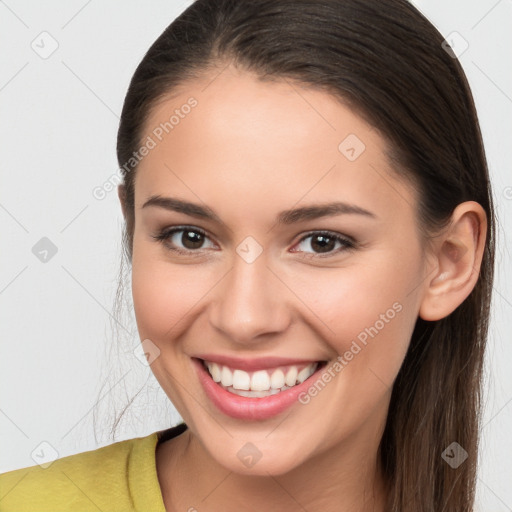
[(327, 361), (313, 361), (300, 365), (290, 364), (245, 371), (204, 359), (199, 361), (220, 387), (229, 393), (247, 398), (264, 398), (291, 389), (327, 365)]

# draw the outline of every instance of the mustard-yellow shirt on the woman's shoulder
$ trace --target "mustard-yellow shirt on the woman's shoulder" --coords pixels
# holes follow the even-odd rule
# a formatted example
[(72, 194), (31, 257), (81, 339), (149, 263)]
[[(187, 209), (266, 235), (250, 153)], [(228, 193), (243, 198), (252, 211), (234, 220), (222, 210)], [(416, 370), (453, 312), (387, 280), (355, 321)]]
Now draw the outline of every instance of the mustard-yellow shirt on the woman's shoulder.
[(186, 429), (181, 423), (146, 437), (63, 457), (47, 468), (0, 475), (1, 512), (165, 512), (155, 449)]

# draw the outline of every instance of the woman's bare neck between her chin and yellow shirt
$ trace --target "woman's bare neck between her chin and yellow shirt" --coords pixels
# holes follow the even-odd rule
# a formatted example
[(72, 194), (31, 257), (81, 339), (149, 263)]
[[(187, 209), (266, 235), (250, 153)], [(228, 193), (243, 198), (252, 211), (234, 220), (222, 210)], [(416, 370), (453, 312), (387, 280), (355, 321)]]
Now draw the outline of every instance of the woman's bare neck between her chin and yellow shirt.
[(168, 512), (259, 510), (384, 512), (386, 486), (377, 457), (380, 435), (347, 438), (282, 475), (234, 473), (218, 464), (187, 429), (157, 449)]

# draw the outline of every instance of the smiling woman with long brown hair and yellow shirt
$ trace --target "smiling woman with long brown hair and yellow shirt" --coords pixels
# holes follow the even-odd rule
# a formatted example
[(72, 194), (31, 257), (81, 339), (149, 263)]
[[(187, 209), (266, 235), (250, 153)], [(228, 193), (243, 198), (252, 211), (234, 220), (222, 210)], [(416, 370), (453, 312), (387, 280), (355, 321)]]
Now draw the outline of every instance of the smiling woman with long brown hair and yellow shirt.
[(184, 422), (6, 473), (4, 509), (472, 510), (494, 214), (437, 30), (403, 0), (197, 0), (117, 151)]

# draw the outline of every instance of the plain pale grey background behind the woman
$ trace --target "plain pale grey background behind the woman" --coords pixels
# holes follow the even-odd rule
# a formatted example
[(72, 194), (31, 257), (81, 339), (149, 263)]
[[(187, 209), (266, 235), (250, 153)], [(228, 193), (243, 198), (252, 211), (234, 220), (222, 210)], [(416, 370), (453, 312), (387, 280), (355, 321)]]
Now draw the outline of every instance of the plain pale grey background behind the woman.
[[(115, 190), (101, 200), (93, 190), (117, 175), (118, 116), (136, 65), (189, 3), (0, 1), (0, 472), (34, 465), (41, 450), (63, 457), (110, 444), (112, 414), (137, 392), (116, 440), (180, 419), (134, 357), (129, 314), (113, 341), (122, 216)], [(500, 219), (477, 510), (510, 511), (512, 2), (414, 3), (469, 44), (460, 60)]]

